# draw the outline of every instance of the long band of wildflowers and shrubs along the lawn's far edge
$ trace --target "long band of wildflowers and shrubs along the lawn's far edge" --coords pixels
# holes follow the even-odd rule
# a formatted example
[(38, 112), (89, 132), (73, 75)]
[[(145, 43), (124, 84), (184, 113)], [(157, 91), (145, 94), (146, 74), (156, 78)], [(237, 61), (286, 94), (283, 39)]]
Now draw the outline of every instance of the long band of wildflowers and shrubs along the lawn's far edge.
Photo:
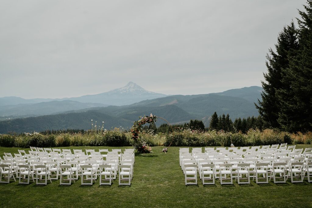
[[(258, 146), (271, 144), (312, 144), (312, 133), (306, 134), (279, 132), (271, 129), (263, 131), (250, 130), (243, 133), (226, 133), (223, 131), (209, 131), (205, 133), (184, 130), (170, 134), (141, 133), (140, 138), (150, 146), (224, 146), (229, 147), (231, 143), (235, 146)], [(130, 133), (118, 130), (105, 131), (104, 133), (91, 134), (69, 134), (42, 135), (0, 135), (0, 146), (2, 147), (67, 147), (67, 146), (132, 146)]]

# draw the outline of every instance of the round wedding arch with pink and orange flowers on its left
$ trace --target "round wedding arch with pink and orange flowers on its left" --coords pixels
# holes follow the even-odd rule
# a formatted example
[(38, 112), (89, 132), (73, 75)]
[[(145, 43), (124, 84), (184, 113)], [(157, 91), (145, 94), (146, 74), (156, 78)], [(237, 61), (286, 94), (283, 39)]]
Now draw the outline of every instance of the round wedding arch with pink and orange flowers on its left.
[[(144, 115), (144, 117), (141, 117), (140, 120), (135, 121), (133, 126), (130, 128), (130, 132), (132, 133), (132, 139), (134, 140), (134, 145), (138, 152), (142, 152), (142, 153), (152, 152), (152, 148), (149, 145), (147, 145), (144, 141), (139, 140), (139, 133), (142, 131), (142, 126), (144, 124), (146, 123), (155, 124), (158, 118), (163, 119), (161, 117), (154, 116), (153, 114), (150, 114), (149, 116)], [(163, 120), (165, 120), (169, 124), (169, 126), (172, 128), (171, 124), (166, 119), (163, 119)], [(172, 141), (170, 145), (171, 144), (172, 144)], [(168, 147), (170, 147), (170, 145)], [(168, 147), (163, 148), (162, 152), (166, 153)]]

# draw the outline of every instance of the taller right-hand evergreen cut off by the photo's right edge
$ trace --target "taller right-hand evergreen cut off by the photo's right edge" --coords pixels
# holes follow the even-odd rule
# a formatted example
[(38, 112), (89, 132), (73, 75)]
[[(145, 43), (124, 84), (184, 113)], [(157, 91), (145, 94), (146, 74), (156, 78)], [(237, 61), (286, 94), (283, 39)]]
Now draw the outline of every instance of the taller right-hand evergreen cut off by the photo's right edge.
[(282, 69), (285, 88), (277, 91), (281, 102), (278, 122), (283, 130), (312, 129), (312, 0), (299, 11), (299, 50), (289, 54), (289, 67)]

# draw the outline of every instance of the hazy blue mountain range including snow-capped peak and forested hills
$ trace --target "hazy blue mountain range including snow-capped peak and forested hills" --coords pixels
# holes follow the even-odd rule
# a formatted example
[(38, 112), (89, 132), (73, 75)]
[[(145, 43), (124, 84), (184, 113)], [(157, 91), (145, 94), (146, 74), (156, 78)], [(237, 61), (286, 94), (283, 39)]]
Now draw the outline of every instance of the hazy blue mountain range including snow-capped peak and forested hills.
[[(5, 119), (0, 121), (0, 133), (66, 128), (89, 129), (91, 128), (91, 119), (99, 122), (105, 121), (104, 128), (107, 129), (120, 126), (129, 128), (134, 121), (138, 120), (139, 116), (150, 113), (163, 117), (170, 123), (184, 123), (190, 119), (200, 119), (208, 126), (210, 116), (215, 111), (219, 115), (229, 114), (232, 119), (257, 116), (258, 111), (254, 102), (261, 98), (261, 91), (261, 87), (252, 86), (221, 93), (166, 96), (149, 92), (135, 83), (129, 82), (123, 88), (75, 99), (95, 102), (102, 101), (106, 97), (106, 101), (113, 102), (115, 100), (116, 103), (126, 102), (124, 97), (131, 96), (132, 98), (129, 100), (132, 102), (139, 101), (143, 97), (149, 97), (149, 99), (128, 105), (107, 107), (100, 102), (83, 103), (71, 100), (0, 106), (0, 115), (2, 115), (2, 120)], [(87, 99), (88, 96), (91, 96), (90, 99)], [(152, 99), (153, 96), (159, 97)], [(139, 97), (139, 99), (136, 100), (135, 97)], [(18, 102), (18, 99), (15, 99), (15, 102)], [(20, 118), (7, 119), (9, 115), (12, 118)], [(21, 118), (27, 115), (37, 117)], [(157, 125), (162, 123), (163, 121), (159, 120)]]

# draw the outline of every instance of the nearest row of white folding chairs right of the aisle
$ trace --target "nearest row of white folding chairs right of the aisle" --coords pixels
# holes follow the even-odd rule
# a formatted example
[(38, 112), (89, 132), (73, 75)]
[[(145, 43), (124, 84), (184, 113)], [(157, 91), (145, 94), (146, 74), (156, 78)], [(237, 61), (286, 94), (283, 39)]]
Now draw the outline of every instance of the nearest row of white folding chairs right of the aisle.
[[(269, 183), (269, 178), (271, 181), (272, 177), (274, 183), (285, 183), (289, 176), (291, 182), (296, 183), (303, 182), (305, 175), (308, 182), (312, 182), (312, 162), (308, 162), (305, 169), (303, 162), (292, 162), (288, 168), (285, 162), (276, 162), (272, 167), (269, 167), (267, 162), (256, 163), (255, 167), (251, 167), (250, 163), (238, 163), (234, 166), (232, 163), (202, 164), (202, 184), (215, 184), (217, 178), (220, 184), (233, 184), (233, 177), (238, 184), (250, 184), (250, 178), (253, 178), (253, 181), (256, 178), (257, 184)], [(197, 184), (197, 164), (185, 164), (184, 168), (185, 185)]]

